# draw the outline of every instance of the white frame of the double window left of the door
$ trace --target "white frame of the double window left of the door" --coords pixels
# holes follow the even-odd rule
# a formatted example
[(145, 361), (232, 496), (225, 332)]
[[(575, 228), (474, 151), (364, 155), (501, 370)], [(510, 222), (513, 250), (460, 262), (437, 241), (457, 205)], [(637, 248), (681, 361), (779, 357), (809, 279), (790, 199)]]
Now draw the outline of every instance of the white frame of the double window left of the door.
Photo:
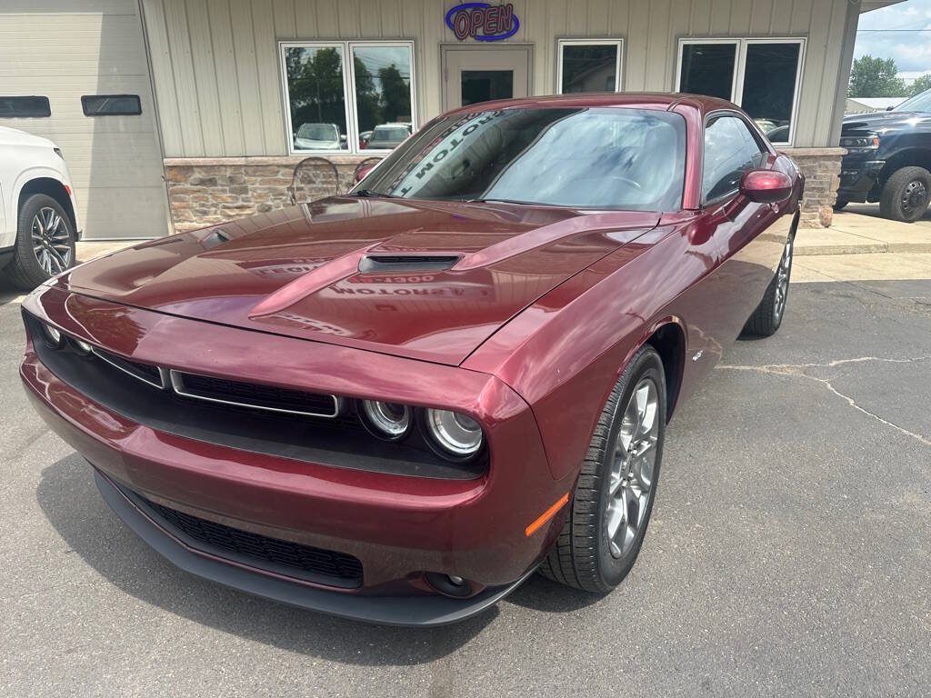
[[(358, 147), (358, 104), (356, 100), (356, 60), (353, 49), (371, 47), (406, 47), (411, 55), (411, 130), (417, 130), (417, 88), (416, 88), (416, 52), (412, 39), (313, 39), (313, 40), (279, 40), (278, 69), (281, 72), (281, 99), (284, 103), (285, 140), (288, 142), (288, 154), (310, 156), (332, 155), (384, 155), (390, 150), (364, 149)], [(346, 148), (339, 150), (295, 150), (293, 125), (290, 115), (290, 91), (288, 87), (288, 67), (285, 51), (288, 48), (340, 48), (343, 51), (343, 93), (346, 120)]]

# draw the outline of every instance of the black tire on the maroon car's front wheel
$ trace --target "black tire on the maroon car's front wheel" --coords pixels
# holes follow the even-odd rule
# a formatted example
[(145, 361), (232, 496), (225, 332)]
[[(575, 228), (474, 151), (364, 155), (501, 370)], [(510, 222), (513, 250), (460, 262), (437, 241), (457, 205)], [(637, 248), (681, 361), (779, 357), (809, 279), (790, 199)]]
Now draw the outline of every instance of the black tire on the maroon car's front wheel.
[[(623, 554), (615, 557), (608, 537), (615, 449), (631, 396), (635, 388), (645, 381), (654, 383), (657, 394), (654, 420), (658, 429), (653, 442), (655, 459), (651, 487), (636, 534)], [(665, 436), (666, 379), (663, 362), (654, 348), (646, 344), (630, 360), (601, 410), (575, 485), (569, 516), (555, 546), (539, 568), (545, 577), (577, 589), (603, 594), (614, 589), (627, 576), (640, 553), (653, 512)]]

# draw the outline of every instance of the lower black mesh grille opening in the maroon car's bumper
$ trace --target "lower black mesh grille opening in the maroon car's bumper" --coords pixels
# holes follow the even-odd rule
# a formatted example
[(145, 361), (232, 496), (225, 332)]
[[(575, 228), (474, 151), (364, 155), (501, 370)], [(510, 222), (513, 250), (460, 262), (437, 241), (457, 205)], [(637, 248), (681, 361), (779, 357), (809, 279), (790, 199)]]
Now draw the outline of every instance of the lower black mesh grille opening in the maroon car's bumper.
[(362, 563), (358, 557), (234, 529), (140, 499), (170, 528), (200, 544), (197, 547), (203, 552), (219, 552), (222, 557), (226, 557), (223, 553), (232, 553), (254, 567), (284, 573), (294, 571), (295, 576), (324, 584), (344, 587), (362, 584)]

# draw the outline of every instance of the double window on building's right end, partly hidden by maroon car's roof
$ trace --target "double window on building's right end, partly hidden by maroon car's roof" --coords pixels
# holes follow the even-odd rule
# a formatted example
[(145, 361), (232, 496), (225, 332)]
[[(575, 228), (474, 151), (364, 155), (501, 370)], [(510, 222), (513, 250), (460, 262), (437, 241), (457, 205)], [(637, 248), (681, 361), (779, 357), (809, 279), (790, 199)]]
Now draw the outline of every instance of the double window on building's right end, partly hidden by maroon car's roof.
[(677, 89), (740, 106), (770, 141), (792, 142), (804, 39), (681, 39)]

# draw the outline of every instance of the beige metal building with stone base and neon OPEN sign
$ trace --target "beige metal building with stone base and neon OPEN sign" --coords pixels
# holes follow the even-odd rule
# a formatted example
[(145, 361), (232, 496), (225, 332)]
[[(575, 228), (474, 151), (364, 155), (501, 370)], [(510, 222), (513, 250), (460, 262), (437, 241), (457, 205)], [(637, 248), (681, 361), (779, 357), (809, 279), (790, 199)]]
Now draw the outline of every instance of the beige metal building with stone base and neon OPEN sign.
[(463, 103), (681, 89), (743, 106), (824, 222), (857, 20), (894, 2), (0, 0), (0, 96), (51, 106), (0, 124), (60, 142), (88, 237), (143, 236), (283, 206), (305, 156), (337, 169), (316, 161), (311, 194), (345, 188)]

